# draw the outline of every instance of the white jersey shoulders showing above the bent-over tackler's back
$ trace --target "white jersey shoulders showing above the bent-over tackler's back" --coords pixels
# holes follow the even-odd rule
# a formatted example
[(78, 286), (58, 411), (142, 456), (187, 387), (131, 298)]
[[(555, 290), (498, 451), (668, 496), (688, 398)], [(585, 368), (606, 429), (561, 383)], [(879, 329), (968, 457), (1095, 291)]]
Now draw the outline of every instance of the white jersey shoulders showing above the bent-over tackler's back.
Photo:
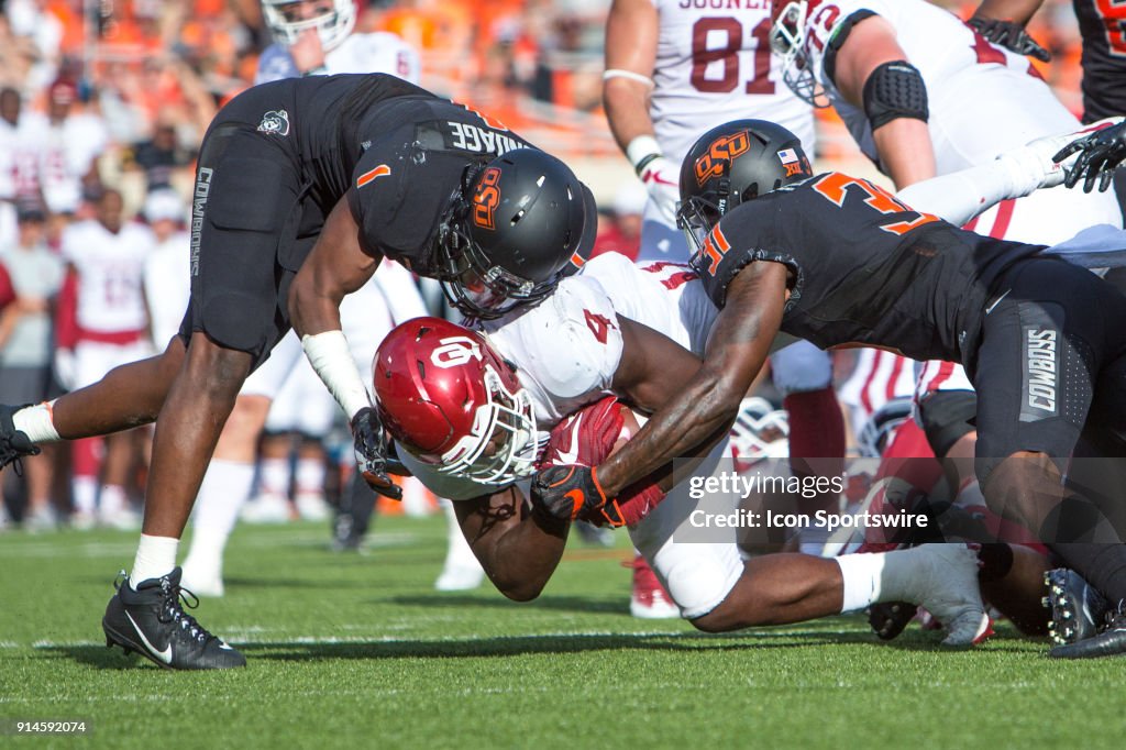
[[(422, 63), (414, 47), (394, 34), (352, 34), (339, 47), (324, 55), (324, 72), (340, 73), (391, 73), (418, 83)], [(271, 44), (258, 60), (254, 84), (300, 78), (301, 71), (293, 62), (289, 51), (282, 44)]]

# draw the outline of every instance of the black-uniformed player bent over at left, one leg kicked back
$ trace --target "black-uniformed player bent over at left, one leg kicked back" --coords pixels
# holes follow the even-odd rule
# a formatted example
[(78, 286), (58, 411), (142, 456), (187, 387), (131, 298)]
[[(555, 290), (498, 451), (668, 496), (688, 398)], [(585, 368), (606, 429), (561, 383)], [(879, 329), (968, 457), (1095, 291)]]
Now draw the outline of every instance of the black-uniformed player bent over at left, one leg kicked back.
[(375, 412), (340, 331), (345, 295), (387, 257), (443, 282), (470, 315), (546, 295), (589, 255), (590, 190), (484, 115), (390, 75), (254, 87), (212, 123), (193, 199), (191, 298), (158, 357), (53, 402), (0, 410), (0, 465), (36, 441), (160, 416), (137, 555), (107, 641), (161, 667), (239, 667), (180, 606), (176, 553), (248, 374), (293, 328), (349, 418), (359, 470), (394, 494)]

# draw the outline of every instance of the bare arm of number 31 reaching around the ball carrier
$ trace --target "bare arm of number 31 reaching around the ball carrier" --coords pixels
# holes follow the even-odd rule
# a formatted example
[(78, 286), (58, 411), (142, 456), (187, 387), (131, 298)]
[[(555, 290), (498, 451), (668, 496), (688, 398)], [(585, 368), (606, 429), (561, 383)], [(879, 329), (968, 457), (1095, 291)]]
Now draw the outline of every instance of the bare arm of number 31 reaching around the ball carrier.
[[(731, 429), (781, 324), (786, 282), (786, 267), (775, 262), (751, 264), (732, 280), (703, 367), (634, 439), (591, 472), (606, 498)], [(533, 493), (537, 490), (544, 491), (538, 476)]]

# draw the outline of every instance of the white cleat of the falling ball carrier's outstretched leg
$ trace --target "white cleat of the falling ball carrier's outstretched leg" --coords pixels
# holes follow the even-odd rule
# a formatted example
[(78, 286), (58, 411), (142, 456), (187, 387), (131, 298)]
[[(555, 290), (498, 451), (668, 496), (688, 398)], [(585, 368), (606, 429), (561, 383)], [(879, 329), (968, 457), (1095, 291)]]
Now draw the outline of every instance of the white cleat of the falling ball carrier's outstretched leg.
[(964, 544), (924, 544), (905, 552), (918, 564), (915, 604), (946, 627), (944, 645), (973, 645), (991, 634), (977, 584), (976, 552)]

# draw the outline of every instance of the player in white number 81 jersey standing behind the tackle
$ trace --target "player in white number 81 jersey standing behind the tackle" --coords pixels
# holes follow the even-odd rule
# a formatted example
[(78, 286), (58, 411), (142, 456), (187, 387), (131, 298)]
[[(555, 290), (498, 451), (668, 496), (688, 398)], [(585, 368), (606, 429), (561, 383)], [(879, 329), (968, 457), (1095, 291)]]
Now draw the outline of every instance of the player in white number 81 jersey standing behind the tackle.
[[(770, 50), (770, 3), (718, 11), (681, 0), (615, 0), (606, 26), (602, 99), (622, 151), (650, 191), (642, 225), (642, 260), (686, 262), (677, 229), (680, 162), (717, 122), (768, 117), (814, 143), (813, 108), (780, 82)], [(691, 3), (687, 3), (691, 5)], [(794, 471), (838, 473), (844, 420), (833, 393), (832, 359), (806, 341), (780, 349), (770, 372), (789, 421)], [(806, 459), (812, 459), (814, 466)], [(835, 507), (832, 493), (799, 501), (801, 510)], [(824, 538), (803, 532), (803, 550)]]

